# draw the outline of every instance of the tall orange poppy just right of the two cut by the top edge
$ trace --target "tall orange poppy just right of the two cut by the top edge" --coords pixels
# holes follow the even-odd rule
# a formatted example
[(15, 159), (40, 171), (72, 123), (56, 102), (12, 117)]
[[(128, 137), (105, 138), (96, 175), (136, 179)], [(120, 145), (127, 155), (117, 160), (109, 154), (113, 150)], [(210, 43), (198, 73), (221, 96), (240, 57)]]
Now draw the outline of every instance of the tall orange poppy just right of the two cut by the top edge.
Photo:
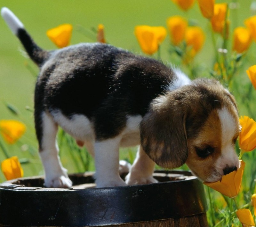
[(223, 34), (227, 8), (227, 3), (214, 4), (213, 16), (211, 19), (212, 29), (214, 32)]

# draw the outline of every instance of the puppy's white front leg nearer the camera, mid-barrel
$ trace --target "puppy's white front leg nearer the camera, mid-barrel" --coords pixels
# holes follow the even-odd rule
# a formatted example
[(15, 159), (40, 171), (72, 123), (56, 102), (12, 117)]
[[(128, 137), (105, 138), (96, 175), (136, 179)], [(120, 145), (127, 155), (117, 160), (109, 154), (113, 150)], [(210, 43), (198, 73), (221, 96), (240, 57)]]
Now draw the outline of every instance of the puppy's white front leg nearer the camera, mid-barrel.
[(97, 187), (126, 185), (118, 173), (120, 141), (121, 138), (115, 137), (95, 142), (95, 182)]

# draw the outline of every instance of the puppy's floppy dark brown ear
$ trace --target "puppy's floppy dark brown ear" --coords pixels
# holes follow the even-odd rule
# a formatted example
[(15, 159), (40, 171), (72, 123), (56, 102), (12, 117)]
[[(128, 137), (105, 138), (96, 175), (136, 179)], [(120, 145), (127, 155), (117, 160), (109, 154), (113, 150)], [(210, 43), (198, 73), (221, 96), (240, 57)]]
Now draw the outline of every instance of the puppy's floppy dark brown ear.
[(156, 98), (140, 123), (141, 146), (157, 165), (175, 168), (188, 158), (186, 110), (172, 95)]

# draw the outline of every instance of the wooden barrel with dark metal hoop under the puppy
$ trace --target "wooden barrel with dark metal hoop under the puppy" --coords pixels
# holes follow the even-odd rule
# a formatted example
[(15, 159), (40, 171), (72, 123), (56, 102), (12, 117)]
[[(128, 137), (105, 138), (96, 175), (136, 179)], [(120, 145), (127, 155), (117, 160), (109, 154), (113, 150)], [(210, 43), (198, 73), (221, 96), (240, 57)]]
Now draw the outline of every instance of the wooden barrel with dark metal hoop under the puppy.
[(205, 227), (202, 182), (186, 171), (156, 171), (159, 183), (93, 188), (93, 173), (74, 186), (44, 188), (42, 177), (0, 184), (0, 226)]

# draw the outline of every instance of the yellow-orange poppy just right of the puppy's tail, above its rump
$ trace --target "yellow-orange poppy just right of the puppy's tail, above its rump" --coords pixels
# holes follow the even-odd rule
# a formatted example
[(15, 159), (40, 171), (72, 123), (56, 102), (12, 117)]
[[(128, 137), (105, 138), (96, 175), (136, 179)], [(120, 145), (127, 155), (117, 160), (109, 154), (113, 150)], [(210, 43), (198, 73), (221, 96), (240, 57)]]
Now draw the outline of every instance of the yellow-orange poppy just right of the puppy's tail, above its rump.
[(59, 48), (67, 47), (73, 27), (70, 24), (63, 24), (46, 32), (48, 38)]

